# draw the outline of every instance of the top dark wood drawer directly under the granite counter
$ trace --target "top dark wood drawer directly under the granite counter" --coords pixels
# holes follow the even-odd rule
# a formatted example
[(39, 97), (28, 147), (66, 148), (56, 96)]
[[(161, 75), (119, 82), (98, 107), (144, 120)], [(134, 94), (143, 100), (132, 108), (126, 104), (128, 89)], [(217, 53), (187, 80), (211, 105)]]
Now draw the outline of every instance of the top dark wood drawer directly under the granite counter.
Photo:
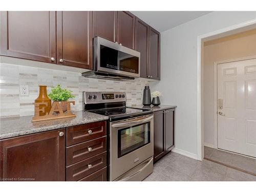
[(67, 128), (67, 146), (106, 135), (106, 121), (71, 126)]

